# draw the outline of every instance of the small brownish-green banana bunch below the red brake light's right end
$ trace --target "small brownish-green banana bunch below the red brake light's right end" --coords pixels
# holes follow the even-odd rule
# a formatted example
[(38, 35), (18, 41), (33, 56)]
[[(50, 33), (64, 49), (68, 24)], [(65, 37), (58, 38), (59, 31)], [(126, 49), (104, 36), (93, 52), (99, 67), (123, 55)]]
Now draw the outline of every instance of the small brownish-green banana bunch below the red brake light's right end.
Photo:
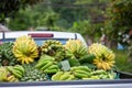
[(55, 57), (56, 61), (62, 61), (65, 58), (65, 48), (59, 41), (56, 40), (47, 40), (41, 46), (42, 55), (47, 54), (50, 56)]

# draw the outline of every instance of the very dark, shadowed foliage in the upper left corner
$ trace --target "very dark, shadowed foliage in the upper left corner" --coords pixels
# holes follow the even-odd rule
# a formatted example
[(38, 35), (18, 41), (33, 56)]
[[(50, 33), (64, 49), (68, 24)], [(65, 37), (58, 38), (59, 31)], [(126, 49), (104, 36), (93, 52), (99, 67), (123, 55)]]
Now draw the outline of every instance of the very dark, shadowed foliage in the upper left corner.
[(25, 8), (28, 4), (35, 4), (43, 0), (0, 0), (0, 22), (4, 22), (6, 18), (14, 18), (20, 8)]

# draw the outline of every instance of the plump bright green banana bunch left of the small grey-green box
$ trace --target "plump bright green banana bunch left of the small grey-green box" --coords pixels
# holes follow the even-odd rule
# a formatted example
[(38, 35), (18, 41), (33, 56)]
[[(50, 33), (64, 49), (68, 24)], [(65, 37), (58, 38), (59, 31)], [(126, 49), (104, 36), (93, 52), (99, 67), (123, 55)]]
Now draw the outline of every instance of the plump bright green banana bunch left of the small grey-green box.
[(57, 73), (59, 70), (55, 58), (48, 55), (42, 55), (35, 67), (46, 74)]

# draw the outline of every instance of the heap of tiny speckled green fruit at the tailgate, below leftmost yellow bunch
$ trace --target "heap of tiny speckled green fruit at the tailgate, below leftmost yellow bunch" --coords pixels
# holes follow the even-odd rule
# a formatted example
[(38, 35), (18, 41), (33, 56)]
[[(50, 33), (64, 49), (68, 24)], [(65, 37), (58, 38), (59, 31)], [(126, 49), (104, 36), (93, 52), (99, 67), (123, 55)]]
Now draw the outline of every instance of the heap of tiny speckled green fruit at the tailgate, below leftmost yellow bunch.
[(35, 62), (32, 64), (23, 64), (22, 66), (25, 69), (25, 73), (20, 81), (45, 81), (47, 80), (46, 75), (35, 68)]

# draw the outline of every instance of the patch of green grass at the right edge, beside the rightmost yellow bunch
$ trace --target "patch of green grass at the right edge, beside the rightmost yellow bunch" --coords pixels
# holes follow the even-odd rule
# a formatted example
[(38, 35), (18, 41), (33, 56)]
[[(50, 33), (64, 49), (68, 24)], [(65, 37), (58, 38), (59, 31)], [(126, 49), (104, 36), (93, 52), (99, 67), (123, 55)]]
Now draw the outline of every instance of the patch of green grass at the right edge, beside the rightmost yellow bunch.
[(127, 51), (113, 50), (116, 54), (116, 66), (121, 72), (132, 73), (132, 63), (128, 62)]

